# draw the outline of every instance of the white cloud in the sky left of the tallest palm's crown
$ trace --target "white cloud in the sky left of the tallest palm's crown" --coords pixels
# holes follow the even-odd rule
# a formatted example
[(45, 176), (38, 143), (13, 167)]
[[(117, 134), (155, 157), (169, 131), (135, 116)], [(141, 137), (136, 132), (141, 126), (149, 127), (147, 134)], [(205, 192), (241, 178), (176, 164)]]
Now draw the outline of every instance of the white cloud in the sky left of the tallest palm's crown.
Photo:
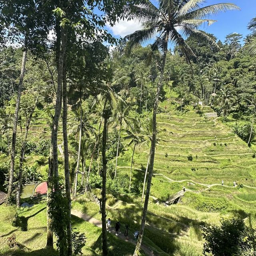
[(111, 30), (114, 36), (124, 37), (128, 34), (135, 32), (136, 30), (140, 30), (141, 24), (135, 20), (120, 20), (113, 27), (107, 24), (107, 28)]

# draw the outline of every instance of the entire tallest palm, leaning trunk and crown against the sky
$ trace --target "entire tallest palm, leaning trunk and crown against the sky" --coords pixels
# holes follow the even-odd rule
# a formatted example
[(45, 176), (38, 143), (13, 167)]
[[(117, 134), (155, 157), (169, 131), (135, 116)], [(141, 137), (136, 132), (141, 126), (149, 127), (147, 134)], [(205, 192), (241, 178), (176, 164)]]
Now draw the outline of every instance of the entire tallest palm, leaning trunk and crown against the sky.
[(135, 11), (131, 15), (142, 22), (142, 29), (138, 30), (126, 38), (130, 41), (130, 46), (139, 44), (146, 40), (154, 38), (156, 40), (152, 44), (154, 50), (162, 50), (162, 63), (160, 69), (160, 77), (156, 92), (156, 98), (153, 108), (152, 117), (152, 143), (150, 150), (150, 166), (148, 175), (148, 184), (146, 191), (146, 198), (142, 214), (142, 222), (140, 227), (140, 235), (134, 256), (138, 256), (142, 237), (144, 233), (144, 227), (146, 223), (146, 213), (148, 209), (148, 199), (150, 193), (150, 186), (152, 180), (153, 166), (154, 166), (154, 154), (156, 146), (156, 112), (158, 108), (158, 100), (160, 90), (162, 88), (162, 80), (164, 74), (164, 66), (166, 60), (166, 54), (168, 50), (168, 41), (178, 45), (185, 58), (189, 61), (191, 55), (194, 56), (191, 48), (188, 46), (182, 35), (192, 36), (205, 40), (209, 43), (215, 44), (216, 42), (210, 38), (205, 32), (198, 30), (198, 27), (204, 22), (212, 24), (215, 20), (208, 19), (210, 14), (216, 14), (222, 10), (238, 10), (239, 8), (234, 4), (213, 4), (210, 6), (200, 7), (202, 0), (158, 0), (155, 1), (157, 6), (152, 4), (150, 0), (143, 0), (139, 6), (136, 6)]

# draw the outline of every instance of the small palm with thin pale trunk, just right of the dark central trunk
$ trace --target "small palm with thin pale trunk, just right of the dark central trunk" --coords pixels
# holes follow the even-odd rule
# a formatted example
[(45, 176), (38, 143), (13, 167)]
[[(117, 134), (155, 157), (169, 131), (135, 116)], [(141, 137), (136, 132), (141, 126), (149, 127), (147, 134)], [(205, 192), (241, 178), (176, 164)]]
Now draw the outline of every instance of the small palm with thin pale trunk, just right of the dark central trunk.
[(117, 142), (117, 150), (116, 150), (116, 168), (115, 168), (115, 177), (116, 177), (116, 169), (117, 169), (117, 158), (120, 144), (120, 135), (122, 128), (133, 128), (134, 124), (136, 124), (136, 119), (128, 116), (131, 110), (131, 106), (126, 106), (126, 103), (123, 100), (118, 101), (118, 105), (115, 111), (113, 118), (117, 121), (119, 125), (118, 132), (118, 142)]

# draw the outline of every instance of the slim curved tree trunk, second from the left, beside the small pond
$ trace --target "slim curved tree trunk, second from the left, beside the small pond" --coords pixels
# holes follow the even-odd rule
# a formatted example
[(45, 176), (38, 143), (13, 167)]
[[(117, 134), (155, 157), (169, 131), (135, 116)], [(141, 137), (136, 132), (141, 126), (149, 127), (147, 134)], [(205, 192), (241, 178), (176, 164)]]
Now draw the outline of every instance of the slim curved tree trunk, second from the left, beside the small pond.
[(36, 97), (35, 104), (28, 116), (28, 119), (26, 120), (25, 136), (24, 136), (22, 148), (20, 151), (20, 163), (19, 163), (19, 169), (18, 169), (19, 173), (18, 173), (18, 183), (17, 183), (17, 192), (16, 192), (16, 206), (17, 207), (20, 207), (20, 192), (21, 192), (21, 185), (22, 185), (22, 167), (23, 167), (24, 155), (25, 155), (25, 151), (26, 151), (26, 147), (27, 147), (28, 129), (29, 129), (31, 119), (32, 119), (32, 116), (33, 116), (35, 108), (36, 108), (36, 104), (38, 102), (38, 98), (39, 98), (39, 96)]

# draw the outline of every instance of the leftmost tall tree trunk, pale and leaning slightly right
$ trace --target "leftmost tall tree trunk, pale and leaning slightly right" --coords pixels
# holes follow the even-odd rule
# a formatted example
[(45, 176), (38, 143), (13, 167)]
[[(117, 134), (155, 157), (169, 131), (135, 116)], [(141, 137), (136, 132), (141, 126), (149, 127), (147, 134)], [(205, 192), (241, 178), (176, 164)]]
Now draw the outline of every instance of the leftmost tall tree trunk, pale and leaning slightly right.
[(18, 86), (18, 95), (16, 100), (15, 112), (14, 112), (14, 122), (12, 130), (12, 151), (11, 151), (11, 164), (10, 164), (10, 177), (9, 177), (9, 186), (7, 193), (7, 200), (11, 202), (12, 200), (12, 190), (13, 190), (13, 174), (14, 174), (14, 161), (15, 161), (15, 149), (16, 149), (16, 135), (17, 135), (17, 124), (20, 110), (20, 96), (22, 92), (23, 79), (25, 75), (25, 66), (27, 59), (27, 50), (25, 49), (22, 56), (21, 70), (20, 70), (20, 81)]

